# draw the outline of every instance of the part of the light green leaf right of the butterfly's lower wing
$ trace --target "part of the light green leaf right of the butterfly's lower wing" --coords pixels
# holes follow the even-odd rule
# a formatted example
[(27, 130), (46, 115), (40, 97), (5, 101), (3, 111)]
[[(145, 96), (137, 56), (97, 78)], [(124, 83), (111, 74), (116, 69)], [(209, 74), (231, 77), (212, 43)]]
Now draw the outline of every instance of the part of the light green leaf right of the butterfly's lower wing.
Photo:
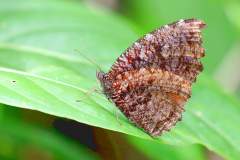
[(203, 75), (193, 88), (183, 123), (162, 138), (169, 142), (175, 139), (176, 143), (203, 144), (228, 159), (238, 159), (240, 128), (236, 122), (240, 120), (239, 115), (239, 101)]

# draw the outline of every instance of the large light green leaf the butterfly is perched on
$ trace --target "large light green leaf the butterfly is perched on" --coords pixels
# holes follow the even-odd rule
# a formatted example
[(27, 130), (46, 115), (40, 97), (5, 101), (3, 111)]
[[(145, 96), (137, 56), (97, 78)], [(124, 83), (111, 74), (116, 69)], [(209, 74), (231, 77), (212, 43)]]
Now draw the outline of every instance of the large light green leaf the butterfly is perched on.
[[(107, 69), (138, 37), (131, 23), (72, 1), (10, 2), (17, 1), (0, 1), (0, 103), (152, 140), (103, 94), (91, 91), (98, 86), (96, 67), (73, 51), (80, 49)], [(182, 122), (160, 139), (199, 143), (238, 159), (239, 115), (239, 101), (202, 75)]]

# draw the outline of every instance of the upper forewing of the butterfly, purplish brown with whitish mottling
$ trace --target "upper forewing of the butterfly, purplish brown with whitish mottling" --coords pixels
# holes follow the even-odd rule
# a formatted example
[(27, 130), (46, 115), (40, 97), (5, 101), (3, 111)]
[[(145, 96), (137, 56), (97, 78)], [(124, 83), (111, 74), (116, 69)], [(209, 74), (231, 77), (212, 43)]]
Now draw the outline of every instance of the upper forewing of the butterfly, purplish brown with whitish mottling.
[(129, 47), (113, 64), (109, 76), (143, 67), (161, 68), (193, 82), (203, 67), (201, 29), (204, 22), (180, 20), (165, 25)]

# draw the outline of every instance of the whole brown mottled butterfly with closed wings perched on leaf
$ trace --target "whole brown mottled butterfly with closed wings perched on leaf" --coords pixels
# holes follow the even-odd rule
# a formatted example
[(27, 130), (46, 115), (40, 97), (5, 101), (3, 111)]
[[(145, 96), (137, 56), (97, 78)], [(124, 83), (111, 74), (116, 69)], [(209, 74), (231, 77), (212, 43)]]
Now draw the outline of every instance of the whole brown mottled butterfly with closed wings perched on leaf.
[(106, 97), (153, 137), (182, 118), (191, 86), (203, 70), (205, 25), (186, 19), (162, 26), (126, 49), (109, 72), (97, 72)]

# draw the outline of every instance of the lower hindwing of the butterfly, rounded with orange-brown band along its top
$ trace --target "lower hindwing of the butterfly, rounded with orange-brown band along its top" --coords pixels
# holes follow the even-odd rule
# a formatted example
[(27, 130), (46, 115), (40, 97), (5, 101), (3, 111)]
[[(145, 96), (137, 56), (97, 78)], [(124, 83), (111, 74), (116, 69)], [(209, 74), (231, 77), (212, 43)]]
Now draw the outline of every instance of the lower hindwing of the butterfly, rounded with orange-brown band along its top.
[(142, 68), (119, 74), (112, 100), (138, 127), (152, 136), (169, 130), (180, 118), (191, 84), (168, 71)]

